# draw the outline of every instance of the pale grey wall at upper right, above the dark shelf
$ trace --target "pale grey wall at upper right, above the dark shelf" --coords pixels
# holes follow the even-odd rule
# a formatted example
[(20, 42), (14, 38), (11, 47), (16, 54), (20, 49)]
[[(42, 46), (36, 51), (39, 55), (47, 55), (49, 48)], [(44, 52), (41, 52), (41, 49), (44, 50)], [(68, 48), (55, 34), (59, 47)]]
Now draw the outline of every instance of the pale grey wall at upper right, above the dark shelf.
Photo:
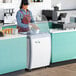
[(76, 0), (51, 0), (51, 6), (61, 3), (61, 9), (76, 9)]

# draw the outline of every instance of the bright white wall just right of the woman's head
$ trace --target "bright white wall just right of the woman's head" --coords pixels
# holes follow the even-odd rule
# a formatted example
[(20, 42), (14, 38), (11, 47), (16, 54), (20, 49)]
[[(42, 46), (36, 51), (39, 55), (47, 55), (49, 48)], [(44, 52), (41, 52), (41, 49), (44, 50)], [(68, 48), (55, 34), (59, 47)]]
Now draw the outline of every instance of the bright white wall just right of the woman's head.
[(43, 0), (41, 3), (30, 3), (29, 9), (33, 15), (40, 15), (42, 9), (51, 9), (51, 0)]

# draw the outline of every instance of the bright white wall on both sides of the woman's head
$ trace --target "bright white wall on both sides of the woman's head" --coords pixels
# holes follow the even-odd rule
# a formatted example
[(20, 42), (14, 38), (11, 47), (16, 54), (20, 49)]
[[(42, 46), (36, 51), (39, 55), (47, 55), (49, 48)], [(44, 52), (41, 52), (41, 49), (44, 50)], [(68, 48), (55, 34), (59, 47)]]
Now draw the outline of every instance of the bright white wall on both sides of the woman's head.
[[(13, 3), (0, 3), (0, 19), (3, 19), (3, 8), (15, 8), (14, 18), (16, 16), (16, 12), (19, 10), (21, 0), (12, 0)], [(37, 16), (41, 14), (42, 9), (51, 9), (51, 0), (43, 0), (40, 3), (30, 3), (29, 9), (32, 11), (33, 16)]]

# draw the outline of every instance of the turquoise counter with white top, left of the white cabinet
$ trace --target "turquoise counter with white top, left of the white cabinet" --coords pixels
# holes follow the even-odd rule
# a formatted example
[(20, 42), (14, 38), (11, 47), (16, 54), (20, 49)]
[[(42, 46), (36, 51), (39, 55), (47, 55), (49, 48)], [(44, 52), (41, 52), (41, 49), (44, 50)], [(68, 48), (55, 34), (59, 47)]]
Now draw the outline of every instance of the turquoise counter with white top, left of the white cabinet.
[(27, 64), (27, 36), (0, 37), (0, 75), (22, 70)]

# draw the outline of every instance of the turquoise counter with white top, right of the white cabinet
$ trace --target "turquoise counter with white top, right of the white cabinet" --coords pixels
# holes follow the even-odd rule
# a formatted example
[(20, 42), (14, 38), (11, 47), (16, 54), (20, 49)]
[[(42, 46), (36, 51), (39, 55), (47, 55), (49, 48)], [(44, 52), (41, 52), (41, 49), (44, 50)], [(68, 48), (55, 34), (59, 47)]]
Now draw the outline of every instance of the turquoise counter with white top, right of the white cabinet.
[(76, 59), (76, 30), (50, 29), (52, 38), (51, 63)]

